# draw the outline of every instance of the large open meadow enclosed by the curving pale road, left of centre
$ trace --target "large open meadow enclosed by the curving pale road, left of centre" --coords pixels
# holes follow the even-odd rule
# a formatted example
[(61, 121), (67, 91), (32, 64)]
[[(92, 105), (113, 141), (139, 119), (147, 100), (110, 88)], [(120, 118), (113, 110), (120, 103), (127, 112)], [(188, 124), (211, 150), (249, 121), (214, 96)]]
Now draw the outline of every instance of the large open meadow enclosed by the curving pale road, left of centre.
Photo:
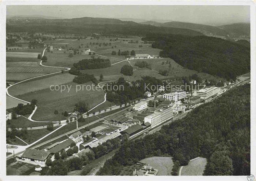
[[(59, 121), (66, 119), (62, 112), (72, 112), (74, 105), (77, 102), (84, 101), (88, 104), (88, 108), (96, 106), (98, 103), (104, 101), (105, 92), (100, 90), (84, 90), (76, 91), (76, 83), (69, 82), (68, 84), (62, 84), (71, 87), (70, 91), (51, 91), (49, 88), (34, 92), (29, 92), (18, 96), (23, 100), (37, 99), (37, 111), (33, 115), (32, 119), (38, 121)], [(83, 86), (91, 84), (83, 84)], [(54, 114), (57, 110), (59, 113)]]

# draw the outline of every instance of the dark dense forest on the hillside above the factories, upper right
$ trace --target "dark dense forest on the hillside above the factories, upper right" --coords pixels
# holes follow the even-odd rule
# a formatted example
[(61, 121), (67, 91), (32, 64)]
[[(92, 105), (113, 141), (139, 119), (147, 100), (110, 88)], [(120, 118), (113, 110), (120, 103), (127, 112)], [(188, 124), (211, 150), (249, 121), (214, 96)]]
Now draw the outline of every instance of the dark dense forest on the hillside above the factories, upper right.
[(205, 72), (227, 80), (250, 71), (250, 47), (208, 36), (147, 34), (144, 41), (155, 41), (161, 57), (170, 57), (184, 68)]

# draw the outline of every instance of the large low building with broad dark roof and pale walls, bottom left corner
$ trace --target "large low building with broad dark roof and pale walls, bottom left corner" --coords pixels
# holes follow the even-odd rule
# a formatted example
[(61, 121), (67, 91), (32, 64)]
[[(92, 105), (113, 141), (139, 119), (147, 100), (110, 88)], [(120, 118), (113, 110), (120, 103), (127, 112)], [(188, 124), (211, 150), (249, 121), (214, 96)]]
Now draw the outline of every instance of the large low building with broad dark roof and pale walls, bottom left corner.
[(45, 161), (50, 155), (49, 152), (37, 149), (26, 149), (21, 157), (17, 157), (18, 161), (31, 163), (33, 165), (45, 165)]

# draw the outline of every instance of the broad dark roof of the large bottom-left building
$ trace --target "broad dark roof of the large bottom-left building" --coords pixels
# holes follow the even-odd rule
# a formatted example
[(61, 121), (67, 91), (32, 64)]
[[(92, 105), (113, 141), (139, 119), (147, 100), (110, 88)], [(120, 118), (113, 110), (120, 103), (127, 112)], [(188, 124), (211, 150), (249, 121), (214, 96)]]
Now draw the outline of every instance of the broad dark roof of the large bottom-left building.
[(27, 149), (25, 150), (25, 152), (22, 154), (21, 157), (44, 161), (49, 156), (49, 154), (50, 154), (49, 152), (44, 150)]

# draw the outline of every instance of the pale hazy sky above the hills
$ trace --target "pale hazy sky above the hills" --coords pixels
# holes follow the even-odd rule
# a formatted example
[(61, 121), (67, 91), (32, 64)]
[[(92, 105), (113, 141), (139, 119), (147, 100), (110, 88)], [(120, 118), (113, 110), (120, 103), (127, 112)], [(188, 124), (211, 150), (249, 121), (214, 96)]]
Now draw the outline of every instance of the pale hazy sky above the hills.
[[(249, 23), (250, 6), (152, 5), (12, 5), (7, 16), (43, 15), (58, 18), (133, 18), (170, 20), (207, 25)], [(142, 20), (142, 21), (143, 21)]]

